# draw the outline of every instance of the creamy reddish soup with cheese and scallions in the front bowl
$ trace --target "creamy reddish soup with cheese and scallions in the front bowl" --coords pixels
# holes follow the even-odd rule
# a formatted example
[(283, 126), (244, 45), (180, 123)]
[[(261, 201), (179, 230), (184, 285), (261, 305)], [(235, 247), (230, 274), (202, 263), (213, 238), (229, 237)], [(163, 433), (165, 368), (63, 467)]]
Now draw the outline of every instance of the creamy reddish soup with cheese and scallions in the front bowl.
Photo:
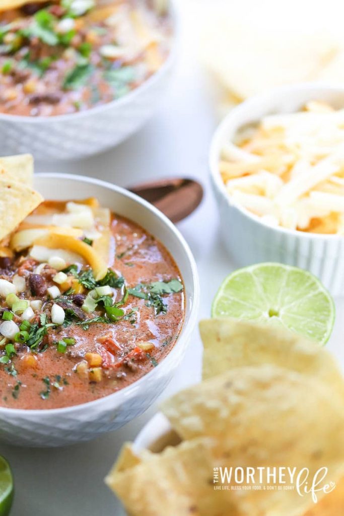
[(1, 245), (1, 406), (101, 398), (173, 347), (183, 281), (165, 247), (134, 222), (95, 199), (46, 201)]

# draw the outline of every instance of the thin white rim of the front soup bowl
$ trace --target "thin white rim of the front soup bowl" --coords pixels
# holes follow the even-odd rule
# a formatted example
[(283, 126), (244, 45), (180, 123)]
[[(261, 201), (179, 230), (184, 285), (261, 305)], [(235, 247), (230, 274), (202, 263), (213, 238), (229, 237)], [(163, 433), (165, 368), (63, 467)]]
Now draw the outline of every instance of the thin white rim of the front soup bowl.
[[(163, 223), (165, 223), (168, 226), (170, 231), (172, 231), (174, 233), (174, 235), (177, 237), (179, 243), (182, 245), (186, 256), (188, 257), (191, 271), (192, 271), (192, 280), (194, 283), (192, 305), (191, 305), (189, 320), (187, 323), (184, 321), (184, 325), (181, 329), (181, 332), (179, 333), (173, 348), (167, 354), (167, 356), (156, 367), (151, 369), (149, 373), (146, 373), (144, 376), (142, 376), (135, 382), (130, 383), (123, 389), (121, 389), (117, 392), (114, 392), (112, 394), (108, 394), (107, 396), (97, 398), (93, 401), (88, 401), (86, 403), (81, 403), (78, 405), (71, 405), (69, 407), (61, 407), (61, 408), (57, 408), (57, 409), (12, 409), (12, 408), (7, 408), (7, 407), (0, 407), (0, 416), (6, 416), (6, 414), (11, 415), (11, 416), (18, 415), (18, 416), (22, 416), (22, 417), (25, 415), (29, 415), (29, 416), (31, 416), (31, 415), (32, 416), (50, 415), (50, 414), (59, 415), (62, 413), (73, 412), (75, 410), (81, 410), (84, 408), (85, 409), (92, 408), (95, 405), (101, 405), (102, 402), (104, 402), (104, 400), (109, 400), (109, 399), (112, 400), (113, 399), (113, 401), (116, 401), (116, 398), (120, 398), (123, 395), (125, 396), (125, 395), (130, 394), (130, 392), (135, 391), (137, 389), (138, 385), (143, 383), (146, 378), (156, 374), (156, 372), (159, 370), (160, 366), (163, 366), (163, 363), (165, 362), (165, 360), (167, 360), (169, 357), (173, 356), (173, 354), (176, 353), (176, 350), (178, 347), (178, 342), (181, 339), (182, 334), (183, 334), (184, 339), (187, 339), (189, 337), (189, 334), (192, 332), (192, 330), (196, 324), (196, 320), (198, 318), (198, 308), (199, 308), (199, 301), (200, 301), (200, 281), (199, 281), (199, 275), (198, 275), (198, 269), (196, 266), (196, 262), (194, 260), (191, 249), (190, 249), (189, 245), (187, 244), (184, 236), (179, 232), (179, 230), (176, 228), (176, 226), (173, 224), (173, 222), (171, 222), (170, 219), (168, 219), (166, 217), (166, 215), (161, 213), (159, 211), (159, 209), (157, 209), (155, 206), (153, 206), (153, 204), (150, 204), (148, 201), (145, 201), (144, 199), (140, 198), (135, 193), (132, 193), (132, 192), (126, 190), (125, 188), (122, 188), (121, 186), (113, 185), (111, 183), (102, 181), (100, 179), (88, 178), (83, 175), (64, 174), (64, 173), (58, 173), (58, 172), (37, 173), (37, 174), (35, 174), (35, 177), (46, 178), (46, 179), (52, 178), (52, 179), (59, 179), (59, 180), (64, 180), (64, 179), (65, 180), (74, 180), (74, 181), (81, 181), (84, 183), (89, 183), (89, 184), (93, 184), (93, 185), (97, 185), (97, 186), (102, 186), (102, 187), (112, 190), (114, 192), (120, 193), (123, 196), (125, 196), (133, 201), (136, 201), (137, 203), (141, 204), (143, 207), (145, 207), (146, 209), (151, 211), (158, 219), (160, 219)], [(115, 403), (114, 403), (114, 405), (115, 405)]]

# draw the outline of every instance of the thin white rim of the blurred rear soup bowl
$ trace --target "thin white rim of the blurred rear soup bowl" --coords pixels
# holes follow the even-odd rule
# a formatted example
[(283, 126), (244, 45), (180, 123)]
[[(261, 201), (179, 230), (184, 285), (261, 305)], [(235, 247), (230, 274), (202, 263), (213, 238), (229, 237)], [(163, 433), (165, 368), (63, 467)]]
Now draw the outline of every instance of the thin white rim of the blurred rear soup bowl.
[(162, 75), (172, 66), (173, 62), (176, 59), (177, 50), (178, 50), (178, 41), (181, 32), (180, 27), (180, 16), (179, 9), (176, 7), (177, 0), (169, 0), (170, 6), (170, 17), (173, 23), (173, 35), (171, 38), (171, 50), (165, 62), (163, 62), (162, 66), (153, 73), (148, 79), (146, 79), (140, 86), (135, 88), (134, 90), (129, 91), (125, 95), (123, 95), (120, 99), (112, 100), (111, 102), (106, 102), (105, 104), (101, 104), (100, 106), (90, 107), (89, 109), (84, 109), (83, 111), (77, 111), (75, 113), (66, 113), (65, 115), (56, 115), (56, 116), (39, 116), (39, 117), (30, 117), (24, 115), (10, 115), (9, 113), (0, 113), (0, 122), (20, 122), (21, 124), (50, 124), (54, 122), (64, 122), (69, 120), (79, 120), (87, 117), (88, 115), (97, 115), (106, 109), (111, 107), (123, 106), (130, 103), (132, 100), (135, 100), (135, 97), (140, 95), (141, 92), (153, 86)]

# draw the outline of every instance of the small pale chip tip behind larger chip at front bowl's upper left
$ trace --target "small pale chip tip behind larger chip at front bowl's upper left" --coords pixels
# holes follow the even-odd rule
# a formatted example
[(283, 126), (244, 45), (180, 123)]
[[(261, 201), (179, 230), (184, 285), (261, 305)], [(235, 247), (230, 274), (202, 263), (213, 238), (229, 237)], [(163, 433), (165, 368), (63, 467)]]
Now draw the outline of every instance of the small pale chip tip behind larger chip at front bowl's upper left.
[(18, 181), (32, 188), (34, 184), (34, 158), (31, 154), (0, 158), (0, 180)]

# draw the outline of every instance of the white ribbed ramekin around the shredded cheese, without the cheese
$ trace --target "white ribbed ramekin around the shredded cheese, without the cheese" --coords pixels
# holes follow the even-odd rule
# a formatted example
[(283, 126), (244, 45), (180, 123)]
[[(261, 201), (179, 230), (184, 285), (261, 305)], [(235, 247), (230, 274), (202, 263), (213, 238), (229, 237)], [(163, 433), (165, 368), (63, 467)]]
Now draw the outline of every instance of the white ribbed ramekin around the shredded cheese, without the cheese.
[[(219, 159), (223, 144), (238, 129), (268, 114), (292, 112), (307, 101), (319, 100), (344, 107), (344, 88), (301, 84), (257, 95), (234, 108), (218, 127), (210, 148), (210, 171), (220, 211), (226, 248), (240, 266), (282, 262), (313, 272), (334, 296), (344, 295), (344, 237), (274, 228), (245, 208), (232, 203), (221, 179)], [(344, 202), (344, 200), (343, 200)]]

